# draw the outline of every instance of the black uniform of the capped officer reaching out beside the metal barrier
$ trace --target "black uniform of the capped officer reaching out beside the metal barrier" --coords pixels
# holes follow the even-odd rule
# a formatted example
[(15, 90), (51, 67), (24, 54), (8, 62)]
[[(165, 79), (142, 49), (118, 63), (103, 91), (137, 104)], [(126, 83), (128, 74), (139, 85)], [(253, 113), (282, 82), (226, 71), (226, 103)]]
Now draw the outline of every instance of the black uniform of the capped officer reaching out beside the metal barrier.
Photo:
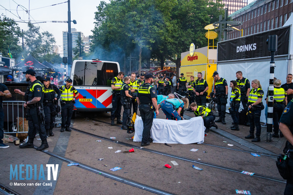
[(35, 80), (32, 82), (25, 91), (25, 101), (31, 101), (34, 97), (41, 97), (40, 101), (34, 104), (28, 104), (27, 106), (27, 118), (28, 118), (28, 141), (26, 144), (20, 145), (20, 148), (33, 148), (33, 141), (37, 132), (42, 140), (42, 144), (37, 150), (48, 148), (47, 136), (43, 115), (43, 99), (44, 99), (44, 85)]

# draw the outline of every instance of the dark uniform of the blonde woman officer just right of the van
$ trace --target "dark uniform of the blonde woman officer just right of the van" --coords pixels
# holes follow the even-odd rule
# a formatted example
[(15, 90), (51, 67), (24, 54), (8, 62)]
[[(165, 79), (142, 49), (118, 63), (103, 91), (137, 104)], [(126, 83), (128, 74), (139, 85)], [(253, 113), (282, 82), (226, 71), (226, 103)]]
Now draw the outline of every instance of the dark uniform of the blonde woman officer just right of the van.
[[(129, 86), (126, 83), (122, 84), (120, 95), (121, 95), (121, 104), (123, 105), (123, 120), (122, 120), (122, 129), (125, 129), (128, 121), (128, 116), (130, 114), (130, 98), (126, 96), (125, 91), (128, 91), (130, 94)], [(127, 130), (127, 127), (126, 127)]]

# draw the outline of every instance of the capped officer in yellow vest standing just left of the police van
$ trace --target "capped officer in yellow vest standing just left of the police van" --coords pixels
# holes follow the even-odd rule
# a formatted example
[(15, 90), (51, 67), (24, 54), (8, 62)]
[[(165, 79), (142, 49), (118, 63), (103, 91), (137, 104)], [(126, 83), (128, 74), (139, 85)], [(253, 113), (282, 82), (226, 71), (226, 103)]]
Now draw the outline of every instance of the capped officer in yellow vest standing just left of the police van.
[[(70, 129), (70, 121), (73, 114), (73, 106), (75, 99), (79, 96), (79, 92), (71, 86), (72, 80), (67, 79), (66, 84), (59, 88), (61, 92), (61, 130), (60, 132), (71, 131)], [(75, 93), (75, 96), (74, 94)]]

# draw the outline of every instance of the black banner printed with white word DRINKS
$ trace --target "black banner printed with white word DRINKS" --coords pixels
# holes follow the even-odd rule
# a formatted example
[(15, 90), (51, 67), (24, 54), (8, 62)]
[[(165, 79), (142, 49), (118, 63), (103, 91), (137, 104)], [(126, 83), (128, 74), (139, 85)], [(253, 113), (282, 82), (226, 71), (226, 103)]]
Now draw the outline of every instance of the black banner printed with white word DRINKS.
[(266, 31), (260, 34), (240, 37), (218, 43), (217, 61), (238, 60), (270, 56), (267, 39), (269, 35), (278, 36), (278, 47), (275, 56), (287, 55), (289, 52), (290, 27)]

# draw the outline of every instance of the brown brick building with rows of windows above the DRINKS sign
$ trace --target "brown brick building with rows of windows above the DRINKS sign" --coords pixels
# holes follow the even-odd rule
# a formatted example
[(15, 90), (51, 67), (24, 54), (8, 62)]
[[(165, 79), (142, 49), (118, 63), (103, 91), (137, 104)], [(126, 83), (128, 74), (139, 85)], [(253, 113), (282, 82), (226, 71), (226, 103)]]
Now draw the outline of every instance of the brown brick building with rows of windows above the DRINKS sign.
[[(237, 28), (243, 36), (282, 27), (291, 16), (293, 0), (256, 0), (229, 15), (243, 23)], [(228, 39), (241, 37), (241, 31), (229, 32)]]

